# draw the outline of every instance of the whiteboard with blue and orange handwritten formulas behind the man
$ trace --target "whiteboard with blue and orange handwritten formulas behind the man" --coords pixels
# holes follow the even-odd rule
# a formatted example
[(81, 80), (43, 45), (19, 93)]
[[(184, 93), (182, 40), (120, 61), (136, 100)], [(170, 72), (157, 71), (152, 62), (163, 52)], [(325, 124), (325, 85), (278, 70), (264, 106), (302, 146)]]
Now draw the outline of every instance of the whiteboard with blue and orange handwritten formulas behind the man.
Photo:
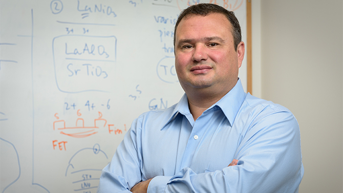
[[(1, 192), (96, 192), (143, 112), (183, 95), (174, 26), (187, 0), (1, 0)], [(246, 39), (246, 2), (235, 11)], [(246, 90), (246, 60), (239, 74)]]

